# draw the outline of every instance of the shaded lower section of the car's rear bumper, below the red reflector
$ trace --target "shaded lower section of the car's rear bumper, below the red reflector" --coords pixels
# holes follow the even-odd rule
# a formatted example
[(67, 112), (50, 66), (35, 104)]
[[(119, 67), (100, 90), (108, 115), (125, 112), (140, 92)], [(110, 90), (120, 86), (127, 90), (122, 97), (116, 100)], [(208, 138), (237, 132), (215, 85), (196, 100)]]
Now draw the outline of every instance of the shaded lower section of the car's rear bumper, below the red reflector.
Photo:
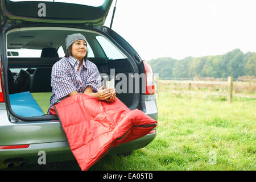
[[(121, 154), (147, 146), (156, 137), (156, 132), (147, 134), (144, 137), (135, 139), (129, 143), (120, 144), (112, 148), (108, 154)], [(39, 164), (45, 152), (45, 161), (47, 163), (75, 160), (68, 142), (51, 142), (30, 144), (28, 148), (0, 149), (0, 169), (7, 168), (6, 163), (15, 161), (15, 159), (25, 160), (28, 164)]]

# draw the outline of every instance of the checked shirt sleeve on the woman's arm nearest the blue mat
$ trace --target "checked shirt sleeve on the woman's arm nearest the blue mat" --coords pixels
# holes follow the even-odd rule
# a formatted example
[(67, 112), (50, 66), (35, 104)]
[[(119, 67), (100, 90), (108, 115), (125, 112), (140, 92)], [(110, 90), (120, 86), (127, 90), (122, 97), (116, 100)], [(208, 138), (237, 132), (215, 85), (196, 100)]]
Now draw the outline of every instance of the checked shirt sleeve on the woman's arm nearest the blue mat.
[(76, 90), (75, 85), (71, 81), (70, 73), (68, 69), (60, 64), (53, 65), (52, 67), (52, 91), (56, 94), (56, 99), (68, 96), (69, 93)]

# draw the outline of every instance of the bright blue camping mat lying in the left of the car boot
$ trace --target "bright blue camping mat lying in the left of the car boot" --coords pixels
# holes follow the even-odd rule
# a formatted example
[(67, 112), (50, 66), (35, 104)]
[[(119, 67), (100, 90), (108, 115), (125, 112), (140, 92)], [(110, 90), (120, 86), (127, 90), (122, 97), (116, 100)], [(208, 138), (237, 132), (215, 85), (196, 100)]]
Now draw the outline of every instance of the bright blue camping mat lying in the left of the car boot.
[(11, 109), (15, 114), (32, 117), (43, 115), (44, 112), (30, 92), (9, 94)]

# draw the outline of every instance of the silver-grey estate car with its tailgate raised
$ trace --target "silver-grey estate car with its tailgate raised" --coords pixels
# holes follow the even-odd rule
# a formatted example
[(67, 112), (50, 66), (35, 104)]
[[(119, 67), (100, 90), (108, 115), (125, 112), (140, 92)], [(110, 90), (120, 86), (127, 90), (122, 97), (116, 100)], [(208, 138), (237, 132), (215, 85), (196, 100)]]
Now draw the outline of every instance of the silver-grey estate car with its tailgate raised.
[[(0, 169), (37, 164), (41, 154), (46, 154), (47, 163), (75, 160), (59, 118), (47, 115), (51, 68), (65, 55), (64, 40), (69, 34), (86, 37), (88, 59), (101, 74), (115, 77), (115, 86), (121, 90), (117, 97), (127, 107), (158, 119), (150, 65), (111, 26), (104, 26), (112, 2), (96, 6), (1, 1)], [(153, 129), (107, 155), (131, 154), (155, 137)]]

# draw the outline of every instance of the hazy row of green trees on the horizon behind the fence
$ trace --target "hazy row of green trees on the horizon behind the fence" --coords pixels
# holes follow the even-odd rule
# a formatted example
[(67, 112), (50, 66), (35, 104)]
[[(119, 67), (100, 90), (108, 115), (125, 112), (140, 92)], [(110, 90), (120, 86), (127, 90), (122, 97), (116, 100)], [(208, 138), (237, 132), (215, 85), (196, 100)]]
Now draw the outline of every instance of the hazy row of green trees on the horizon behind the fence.
[(147, 63), (151, 65), (154, 73), (159, 73), (159, 77), (238, 78), (256, 75), (256, 53), (243, 53), (240, 49), (234, 49), (224, 55), (185, 57), (182, 60), (162, 57)]

